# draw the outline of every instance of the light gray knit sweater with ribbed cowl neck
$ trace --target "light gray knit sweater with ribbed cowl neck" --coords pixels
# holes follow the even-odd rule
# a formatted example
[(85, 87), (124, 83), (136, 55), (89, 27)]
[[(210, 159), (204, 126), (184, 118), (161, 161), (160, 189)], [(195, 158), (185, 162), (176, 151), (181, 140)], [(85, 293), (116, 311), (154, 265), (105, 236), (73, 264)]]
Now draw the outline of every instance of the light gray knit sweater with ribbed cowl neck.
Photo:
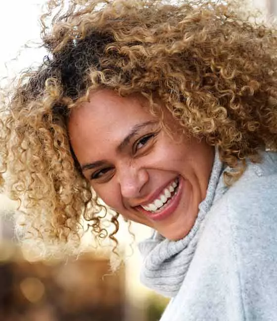
[(161, 321), (277, 321), (277, 153), (227, 188), (216, 153), (189, 234), (139, 244), (142, 282), (172, 297)]

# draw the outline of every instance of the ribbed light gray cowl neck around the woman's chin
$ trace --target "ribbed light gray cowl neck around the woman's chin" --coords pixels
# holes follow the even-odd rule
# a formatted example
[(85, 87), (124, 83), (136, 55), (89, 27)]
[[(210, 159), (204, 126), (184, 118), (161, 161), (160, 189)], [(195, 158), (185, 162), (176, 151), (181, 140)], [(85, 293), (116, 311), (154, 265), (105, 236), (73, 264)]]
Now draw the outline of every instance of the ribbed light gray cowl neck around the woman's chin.
[[(206, 198), (199, 204), (195, 223), (183, 239), (170, 241), (155, 231), (151, 238), (139, 243), (144, 257), (140, 274), (144, 285), (164, 296), (176, 296), (193, 258), (204, 218), (215, 200), (222, 172), (223, 165), (216, 150)], [(220, 185), (221, 190), (225, 189), (223, 183)]]

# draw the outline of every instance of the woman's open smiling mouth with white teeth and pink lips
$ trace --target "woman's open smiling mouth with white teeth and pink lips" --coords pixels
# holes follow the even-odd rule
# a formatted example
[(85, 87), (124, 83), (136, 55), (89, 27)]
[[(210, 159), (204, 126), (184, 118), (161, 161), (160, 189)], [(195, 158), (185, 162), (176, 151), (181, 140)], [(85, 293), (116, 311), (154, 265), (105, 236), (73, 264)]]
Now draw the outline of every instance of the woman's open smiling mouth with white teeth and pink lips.
[(162, 220), (172, 214), (181, 198), (180, 177), (170, 182), (151, 203), (139, 205), (138, 209), (150, 219)]

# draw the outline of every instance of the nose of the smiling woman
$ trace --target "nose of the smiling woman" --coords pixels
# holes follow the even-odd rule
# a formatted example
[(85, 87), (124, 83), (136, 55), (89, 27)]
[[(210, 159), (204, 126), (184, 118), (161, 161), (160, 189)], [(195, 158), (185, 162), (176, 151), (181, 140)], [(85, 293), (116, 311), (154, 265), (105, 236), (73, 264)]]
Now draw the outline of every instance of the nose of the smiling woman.
[(123, 166), (118, 173), (121, 195), (126, 199), (141, 196), (142, 188), (147, 183), (149, 176), (145, 168), (136, 166)]

